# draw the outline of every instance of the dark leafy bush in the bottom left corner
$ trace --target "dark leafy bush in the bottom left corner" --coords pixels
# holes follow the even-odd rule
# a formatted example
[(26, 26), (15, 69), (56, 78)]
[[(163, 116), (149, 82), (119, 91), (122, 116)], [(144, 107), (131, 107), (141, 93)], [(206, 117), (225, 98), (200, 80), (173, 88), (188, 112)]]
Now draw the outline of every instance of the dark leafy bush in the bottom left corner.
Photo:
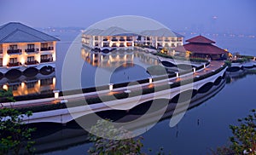
[[(0, 92), (1, 97), (15, 101), (9, 91)], [(32, 116), (32, 112), (21, 113), (13, 108), (0, 109), (0, 154), (19, 154), (20, 149), (32, 153), (31, 134), (35, 129), (22, 123), (22, 118)]]

